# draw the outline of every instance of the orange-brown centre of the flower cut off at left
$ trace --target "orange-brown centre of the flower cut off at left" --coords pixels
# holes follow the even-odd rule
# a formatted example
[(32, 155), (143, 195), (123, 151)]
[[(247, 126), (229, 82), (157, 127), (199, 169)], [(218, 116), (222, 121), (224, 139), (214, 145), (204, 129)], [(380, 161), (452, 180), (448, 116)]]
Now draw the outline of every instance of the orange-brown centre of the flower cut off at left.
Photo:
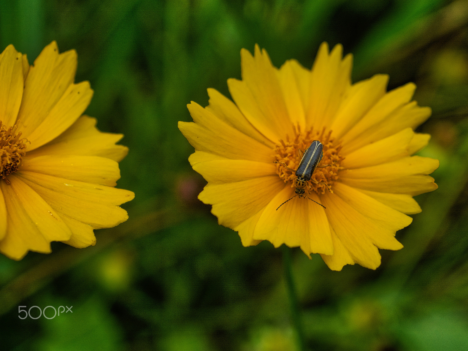
[(27, 141), (20, 139), (21, 132), (17, 126), (7, 127), (0, 121), (0, 177), (9, 184), (7, 176), (18, 170), (22, 157), (26, 154)]

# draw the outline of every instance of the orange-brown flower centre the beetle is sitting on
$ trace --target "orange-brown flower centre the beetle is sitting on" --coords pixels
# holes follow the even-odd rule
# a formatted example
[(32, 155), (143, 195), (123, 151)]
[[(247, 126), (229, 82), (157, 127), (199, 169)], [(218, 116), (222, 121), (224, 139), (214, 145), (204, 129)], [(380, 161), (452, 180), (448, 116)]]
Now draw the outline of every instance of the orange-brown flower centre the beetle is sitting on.
[[(309, 194), (312, 191), (315, 191), (317, 194), (324, 194), (325, 189), (331, 190), (332, 184), (338, 179), (338, 171), (343, 169), (343, 167), (340, 167), (341, 161), (344, 160), (344, 157), (340, 155), (342, 146), (341, 144), (333, 144), (334, 139), (331, 137), (331, 131), (325, 132), (325, 128), (323, 128), (321, 132), (314, 131), (313, 128), (301, 132), (298, 126), (294, 128), (294, 131), (295, 135), (292, 140), (289, 138), (289, 135), (286, 135), (286, 141), (280, 139), (279, 142), (281, 145), (275, 148), (275, 158), (276, 161), (279, 162), (276, 163), (276, 172), (285, 183), (289, 182), (292, 188), (295, 187), (294, 181), (297, 178), (295, 172), (286, 168), (282, 163), (289, 168), (297, 169), (307, 147), (309, 147), (314, 140), (318, 140), (323, 144), (323, 158), (318, 166), (329, 166), (315, 168), (310, 181), (307, 182), (305, 190)], [(320, 184), (314, 183), (313, 180)]]

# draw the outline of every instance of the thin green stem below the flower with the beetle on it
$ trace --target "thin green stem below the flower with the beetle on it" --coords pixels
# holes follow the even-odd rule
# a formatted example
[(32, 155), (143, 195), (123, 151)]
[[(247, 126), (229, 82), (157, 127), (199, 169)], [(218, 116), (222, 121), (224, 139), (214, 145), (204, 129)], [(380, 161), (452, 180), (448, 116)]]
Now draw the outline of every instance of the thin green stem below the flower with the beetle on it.
[(291, 249), (286, 245), (282, 246), (283, 249), (283, 265), (285, 269), (285, 280), (288, 288), (289, 307), (291, 308), (291, 318), (296, 329), (296, 339), (299, 351), (306, 351), (306, 344), (304, 342), (304, 328), (302, 326), (302, 320), (300, 316), (299, 303), (297, 298), (296, 285), (292, 278), (292, 260), (291, 260)]

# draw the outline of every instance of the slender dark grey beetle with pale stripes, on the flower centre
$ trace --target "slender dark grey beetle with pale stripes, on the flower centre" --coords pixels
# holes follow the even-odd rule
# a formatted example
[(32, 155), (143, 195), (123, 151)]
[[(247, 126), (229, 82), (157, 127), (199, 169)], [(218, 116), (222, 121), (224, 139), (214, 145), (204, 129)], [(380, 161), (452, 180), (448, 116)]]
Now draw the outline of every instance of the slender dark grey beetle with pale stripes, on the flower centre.
[[(312, 200), (310, 197), (305, 195), (306, 190), (304, 190), (307, 186), (307, 182), (312, 180), (312, 182), (316, 184), (324, 184), (319, 183), (312, 178), (312, 174), (314, 173), (315, 168), (323, 168), (329, 165), (322, 165), (317, 166), (319, 162), (322, 160), (323, 157), (323, 144), (318, 141), (314, 140), (309, 147), (307, 147), (306, 151), (302, 155), (302, 158), (299, 163), (299, 167), (297, 169), (292, 169), (286, 166), (284, 162), (273, 161), (273, 163), (280, 163), (285, 166), (290, 171), (296, 172), (297, 178), (294, 180), (294, 185), (296, 186), (296, 195), (291, 197), (290, 199), (283, 202), (279, 207), (283, 206), (289, 200), (292, 200), (294, 197), (307, 197), (309, 200), (314, 201), (314, 203), (321, 205), (323, 208), (326, 208), (324, 205), (318, 203), (315, 200)], [(279, 207), (276, 209), (278, 211)]]

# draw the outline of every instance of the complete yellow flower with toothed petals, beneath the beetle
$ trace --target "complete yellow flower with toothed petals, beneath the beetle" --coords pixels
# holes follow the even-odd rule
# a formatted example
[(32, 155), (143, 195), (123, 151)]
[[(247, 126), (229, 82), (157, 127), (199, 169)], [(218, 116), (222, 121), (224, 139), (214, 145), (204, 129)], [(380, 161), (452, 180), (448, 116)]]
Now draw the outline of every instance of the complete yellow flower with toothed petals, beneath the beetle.
[[(376, 74), (351, 84), (352, 57), (342, 53), (323, 43), (312, 70), (295, 60), (277, 69), (257, 45), (254, 57), (242, 49), (242, 80), (227, 81), (235, 103), (208, 89), (209, 106), (191, 102), (194, 122), (179, 129), (208, 182), (198, 198), (244, 246), (268, 240), (319, 253), (332, 270), (376, 269), (378, 249), (401, 249), (395, 232), (421, 211), (412, 197), (437, 189), (427, 175), (439, 161), (410, 156), (429, 141), (413, 130), (431, 110), (411, 101), (413, 83), (387, 92), (388, 75)], [(277, 210), (295, 195), (292, 170), (313, 140), (329, 166), (305, 195), (326, 208), (295, 197)]]

